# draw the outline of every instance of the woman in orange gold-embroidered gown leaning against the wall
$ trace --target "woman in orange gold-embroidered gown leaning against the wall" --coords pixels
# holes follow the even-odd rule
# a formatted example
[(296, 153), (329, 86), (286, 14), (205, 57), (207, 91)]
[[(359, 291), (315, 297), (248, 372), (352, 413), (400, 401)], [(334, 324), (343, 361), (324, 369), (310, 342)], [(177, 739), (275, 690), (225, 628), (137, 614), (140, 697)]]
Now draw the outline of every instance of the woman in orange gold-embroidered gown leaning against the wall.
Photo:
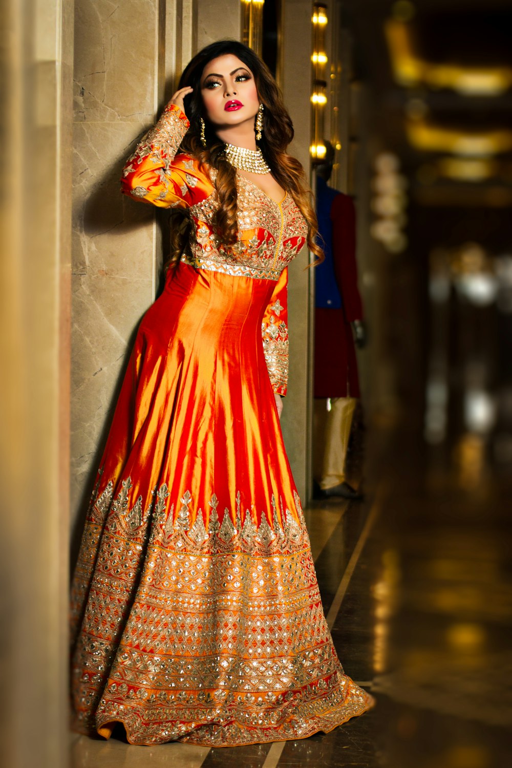
[(175, 227), (88, 512), (72, 594), (81, 733), (122, 723), (130, 743), (228, 746), (372, 706), (332, 646), (279, 429), (286, 266), (306, 240), (320, 253), (291, 139), (266, 66), (220, 41), (124, 168), (125, 194), (183, 212), (187, 242)]

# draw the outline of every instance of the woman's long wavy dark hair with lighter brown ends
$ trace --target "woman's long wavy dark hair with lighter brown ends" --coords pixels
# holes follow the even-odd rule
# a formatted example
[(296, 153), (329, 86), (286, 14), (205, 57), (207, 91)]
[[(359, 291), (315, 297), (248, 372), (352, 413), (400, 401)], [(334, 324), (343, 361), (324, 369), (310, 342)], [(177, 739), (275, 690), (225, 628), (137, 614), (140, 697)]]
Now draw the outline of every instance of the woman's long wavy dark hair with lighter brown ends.
[[(206, 45), (197, 53), (181, 75), (178, 88), (190, 85), (193, 92), (183, 100), (185, 114), (190, 121), (190, 128), (180, 146), (180, 152), (197, 157), (206, 167), (216, 169), (214, 181), (219, 207), (213, 215), (213, 227), (221, 246), (230, 247), (237, 240), (236, 222), (236, 169), (226, 159), (224, 142), (216, 136), (214, 126), (206, 116), (201, 96), (201, 77), (206, 65), (218, 56), (232, 54), (253, 73), (259, 101), (263, 103), (263, 137), (258, 142), (263, 157), (279, 185), (295, 200), (302, 216), (308, 224), (307, 242), (315, 254), (316, 262), (323, 260), (323, 251), (316, 242), (318, 224), (312, 204), (312, 191), (306, 180), (302, 165), (286, 150), (293, 138), (292, 120), (282, 102), (279, 91), (269, 68), (256, 53), (236, 40), (220, 40)], [(200, 139), (200, 118), (205, 122), (206, 147)], [(187, 227), (174, 222), (171, 227), (170, 260), (179, 260), (187, 248)]]

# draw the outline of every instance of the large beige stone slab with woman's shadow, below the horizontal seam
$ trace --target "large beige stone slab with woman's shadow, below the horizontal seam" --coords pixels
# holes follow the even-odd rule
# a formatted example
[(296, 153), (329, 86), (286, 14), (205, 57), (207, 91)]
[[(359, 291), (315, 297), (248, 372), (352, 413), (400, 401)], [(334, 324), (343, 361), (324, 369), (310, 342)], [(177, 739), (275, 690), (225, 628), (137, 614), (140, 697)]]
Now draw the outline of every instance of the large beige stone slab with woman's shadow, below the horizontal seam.
[(154, 298), (159, 260), (154, 210), (119, 191), (124, 160), (145, 127), (127, 121), (85, 121), (74, 126), (71, 500), (75, 515), (87, 503), (127, 346)]

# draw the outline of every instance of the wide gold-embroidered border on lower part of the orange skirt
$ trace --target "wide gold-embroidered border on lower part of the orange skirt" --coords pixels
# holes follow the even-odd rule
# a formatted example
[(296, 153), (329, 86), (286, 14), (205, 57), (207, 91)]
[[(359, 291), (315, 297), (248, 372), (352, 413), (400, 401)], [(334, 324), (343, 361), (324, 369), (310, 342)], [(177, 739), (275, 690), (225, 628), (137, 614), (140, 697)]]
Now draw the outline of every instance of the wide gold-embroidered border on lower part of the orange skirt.
[(213, 494), (205, 525), (188, 491), (174, 516), (163, 484), (146, 530), (121, 531), (142, 507), (130, 478), (115, 498), (111, 485), (88, 520), (97, 528), (110, 494), (101, 545), (81, 552), (97, 560), (74, 653), (77, 730), (120, 720), (131, 743), (234, 745), (331, 730), (372, 706), (332, 647), (296, 493), (295, 511), (273, 496), (259, 525), (239, 493), (220, 522)]

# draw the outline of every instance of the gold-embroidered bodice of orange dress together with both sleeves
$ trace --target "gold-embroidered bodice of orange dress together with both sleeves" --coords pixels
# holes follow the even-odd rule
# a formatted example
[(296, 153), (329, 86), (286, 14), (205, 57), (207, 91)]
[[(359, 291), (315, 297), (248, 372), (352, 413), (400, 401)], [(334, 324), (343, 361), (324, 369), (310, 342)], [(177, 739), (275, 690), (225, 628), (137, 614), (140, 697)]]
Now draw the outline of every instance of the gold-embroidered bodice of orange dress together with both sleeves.
[(237, 172), (238, 237), (231, 247), (218, 243), (212, 218), (218, 206), (216, 170), (195, 157), (177, 154), (189, 121), (170, 104), (128, 158), (121, 191), (157, 207), (181, 207), (191, 221), (190, 254), (181, 260), (196, 269), (276, 282), (263, 317), (263, 347), (273, 389), (286, 394), (288, 329), (286, 267), (306, 243), (307, 224), (295, 200), (279, 203)]

